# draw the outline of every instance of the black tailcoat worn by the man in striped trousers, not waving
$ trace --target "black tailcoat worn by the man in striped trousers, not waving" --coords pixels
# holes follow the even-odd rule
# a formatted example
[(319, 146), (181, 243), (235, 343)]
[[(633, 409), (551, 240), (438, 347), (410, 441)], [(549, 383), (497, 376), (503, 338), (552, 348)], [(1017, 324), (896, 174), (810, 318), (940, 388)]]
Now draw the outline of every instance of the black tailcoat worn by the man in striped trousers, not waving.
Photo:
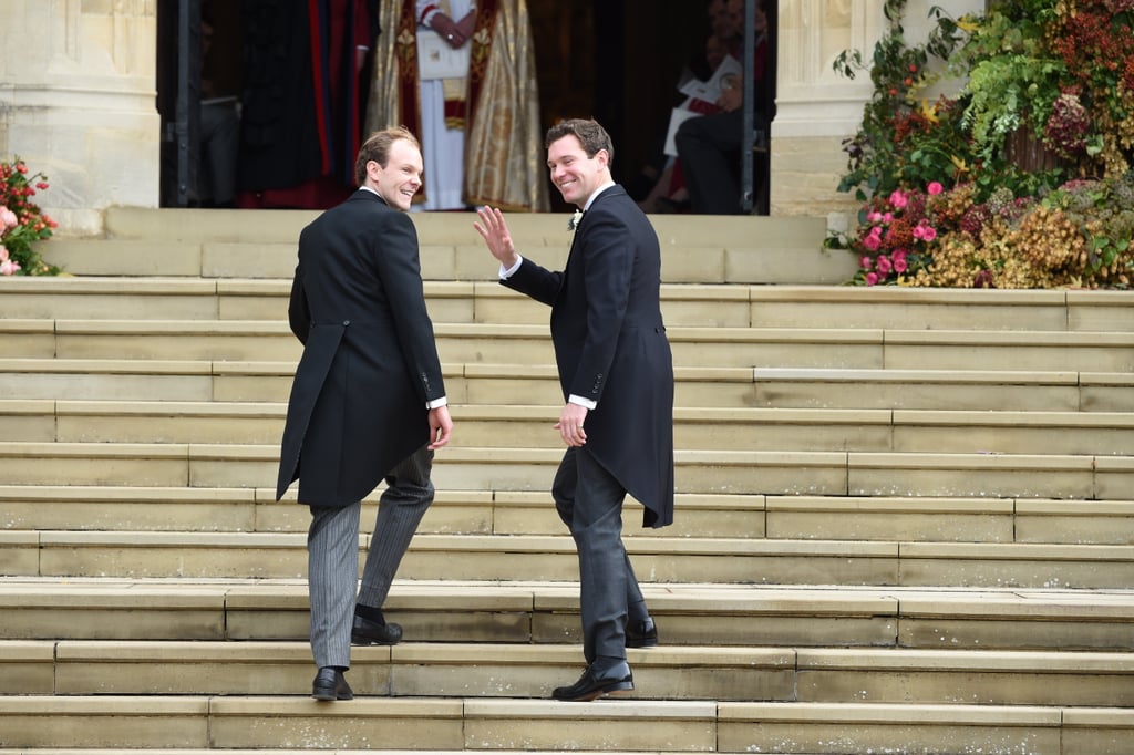
[(280, 449), (277, 500), (362, 500), (429, 442), (426, 401), (445, 396), (408, 214), (358, 189), (299, 235), (288, 307), (303, 341)]

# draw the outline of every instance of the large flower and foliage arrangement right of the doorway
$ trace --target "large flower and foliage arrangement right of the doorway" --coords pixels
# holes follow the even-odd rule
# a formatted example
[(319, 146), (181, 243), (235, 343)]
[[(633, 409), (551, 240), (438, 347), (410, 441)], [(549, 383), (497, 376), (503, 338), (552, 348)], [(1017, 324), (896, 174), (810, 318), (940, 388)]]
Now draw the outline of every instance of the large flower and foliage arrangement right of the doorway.
[[(886, 2), (874, 96), (844, 143), (839, 188), (863, 205), (826, 246), (858, 257), (850, 282), (1134, 286), (1134, 0), (998, 0), (958, 20), (934, 7), (920, 48), (905, 3)], [(930, 58), (960, 84), (919, 104)]]

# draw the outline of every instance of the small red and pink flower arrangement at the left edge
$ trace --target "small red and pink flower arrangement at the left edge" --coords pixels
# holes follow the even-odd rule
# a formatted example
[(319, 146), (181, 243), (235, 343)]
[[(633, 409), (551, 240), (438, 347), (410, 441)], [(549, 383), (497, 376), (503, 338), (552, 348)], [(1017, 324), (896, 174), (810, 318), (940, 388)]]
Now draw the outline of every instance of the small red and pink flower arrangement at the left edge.
[(58, 223), (32, 202), (36, 190), (48, 188), (46, 176), (31, 173), (23, 160), (0, 162), (0, 275), (58, 275), (33, 248), (51, 238)]

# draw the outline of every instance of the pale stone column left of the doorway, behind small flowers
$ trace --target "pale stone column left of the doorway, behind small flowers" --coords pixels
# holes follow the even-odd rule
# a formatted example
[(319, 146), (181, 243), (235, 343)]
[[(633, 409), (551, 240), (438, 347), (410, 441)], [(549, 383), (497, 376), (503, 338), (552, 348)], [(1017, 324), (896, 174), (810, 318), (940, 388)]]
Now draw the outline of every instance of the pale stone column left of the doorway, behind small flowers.
[(0, 159), (48, 176), (61, 235), (159, 202), (158, 0), (3, 0)]

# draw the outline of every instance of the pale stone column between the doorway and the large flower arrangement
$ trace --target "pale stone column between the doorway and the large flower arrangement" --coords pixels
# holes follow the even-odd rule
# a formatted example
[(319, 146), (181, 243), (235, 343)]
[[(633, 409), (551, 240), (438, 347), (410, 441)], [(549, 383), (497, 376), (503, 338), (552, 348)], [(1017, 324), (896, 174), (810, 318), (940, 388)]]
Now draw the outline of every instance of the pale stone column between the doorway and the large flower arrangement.
[[(909, 44), (925, 41), (934, 5), (955, 18), (984, 9), (984, 0), (909, 0), (903, 23)], [(857, 212), (853, 195), (837, 190), (847, 168), (841, 143), (858, 130), (873, 88), (869, 71), (852, 80), (832, 65), (848, 49), (869, 61), (886, 29), (881, 0), (779, 0), (771, 214), (829, 217), (839, 227)]]

